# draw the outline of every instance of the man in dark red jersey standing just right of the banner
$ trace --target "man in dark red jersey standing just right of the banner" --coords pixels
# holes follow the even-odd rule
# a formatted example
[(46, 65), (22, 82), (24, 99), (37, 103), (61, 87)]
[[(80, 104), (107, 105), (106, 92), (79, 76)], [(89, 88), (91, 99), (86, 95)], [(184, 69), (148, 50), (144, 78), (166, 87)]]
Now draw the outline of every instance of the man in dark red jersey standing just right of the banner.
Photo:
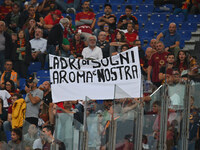
[[(168, 52), (165, 51), (165, 46), (161, 41), (157, 42), (156, 50), (157, 52), (152, 55), (151, 59), (148, 62), (149, 66), (147, 69), (147, 79), (149, 81), (152, 81), (157, 87), (159, 87), (161, 85), (161, 82), (159, 80), (160, 68), (166, 64)], [(152, 70), (153, 72), (151, 79)]]

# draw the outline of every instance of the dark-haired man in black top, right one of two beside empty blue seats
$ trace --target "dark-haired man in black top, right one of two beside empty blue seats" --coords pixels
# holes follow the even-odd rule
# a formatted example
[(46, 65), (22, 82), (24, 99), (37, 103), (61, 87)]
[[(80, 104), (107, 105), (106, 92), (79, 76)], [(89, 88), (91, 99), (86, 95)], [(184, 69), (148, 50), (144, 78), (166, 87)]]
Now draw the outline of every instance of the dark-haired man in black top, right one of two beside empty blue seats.
[(117, 27), (121, 30), (126, 30), (128, 23), (134, 23), (136, 28), (138, 28), (138, 20), (132, 14), (132, 6), (127, 5), (125, 8), (125, 15), (121, 15), (117, 24)]

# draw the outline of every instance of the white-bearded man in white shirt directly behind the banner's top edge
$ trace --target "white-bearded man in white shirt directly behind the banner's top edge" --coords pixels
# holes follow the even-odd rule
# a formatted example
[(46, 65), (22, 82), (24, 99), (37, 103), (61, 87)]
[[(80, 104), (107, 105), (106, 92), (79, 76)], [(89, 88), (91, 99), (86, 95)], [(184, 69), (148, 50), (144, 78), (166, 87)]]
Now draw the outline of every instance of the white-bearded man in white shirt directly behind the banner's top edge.
[(84, 59), (102, 59), (103, 53), (100, 47), (96, 46), (97, 38), (95, 35), (91, 35), (87, 39), (88, 47), (84, 48), (82, 55)]

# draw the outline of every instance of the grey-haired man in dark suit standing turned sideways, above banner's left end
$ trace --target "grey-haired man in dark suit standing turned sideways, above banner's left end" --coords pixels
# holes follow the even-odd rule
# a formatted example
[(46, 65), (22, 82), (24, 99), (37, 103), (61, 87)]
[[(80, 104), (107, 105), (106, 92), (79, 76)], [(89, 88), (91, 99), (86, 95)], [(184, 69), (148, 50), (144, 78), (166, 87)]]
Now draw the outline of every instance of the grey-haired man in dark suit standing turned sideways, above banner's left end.
[(53, 26), (49, 32), (47, 39), (47, 53), (59, 55), (59, 49), (62, 47), (63, 31), (68, 28), (69, 20), (67, 18), (60, 19), (59, 24)]

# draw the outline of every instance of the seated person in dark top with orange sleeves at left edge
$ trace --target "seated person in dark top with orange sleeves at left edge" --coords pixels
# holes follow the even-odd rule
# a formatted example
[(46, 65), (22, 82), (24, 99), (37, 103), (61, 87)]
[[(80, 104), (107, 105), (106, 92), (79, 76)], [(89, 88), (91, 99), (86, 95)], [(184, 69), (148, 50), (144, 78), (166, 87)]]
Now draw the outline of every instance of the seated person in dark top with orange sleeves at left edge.
[(13, 68), (13, 63), (11, 60), (7, 60), (5, 62), (5, 71), (3, 72), (3, 74), (1, 75), (1, 81), (0, 81), (0, 85), (2, 88), (2, 84), (5, 83), (8, 80), (12, 80), (16, 87), (19, 87), (19, 80), (18, 80), (18, 74), (17, 72), (15, 72), (12, 68)]

